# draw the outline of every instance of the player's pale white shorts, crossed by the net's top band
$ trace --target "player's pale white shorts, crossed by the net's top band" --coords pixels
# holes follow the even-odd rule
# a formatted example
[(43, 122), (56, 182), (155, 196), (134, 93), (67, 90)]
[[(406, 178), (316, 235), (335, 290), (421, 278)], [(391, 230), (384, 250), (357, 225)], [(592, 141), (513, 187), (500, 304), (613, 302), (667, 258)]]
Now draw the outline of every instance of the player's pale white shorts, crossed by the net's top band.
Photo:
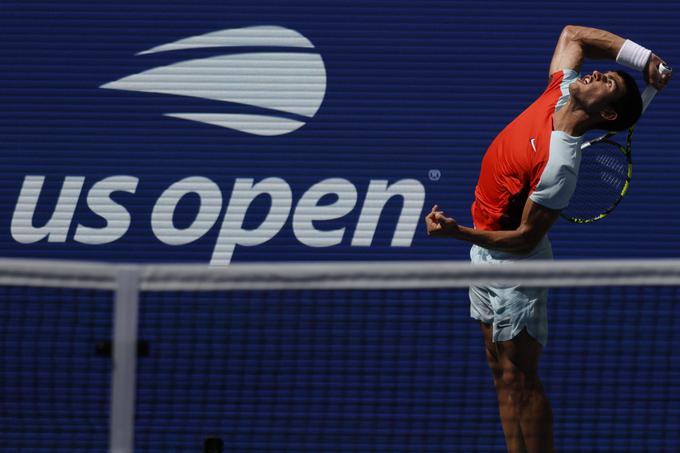
[[(521, 260), (552, 260), (552, 247), (545, 236), (528, 255), (489, 250), (473, 245), (473, 264), (502, 264)], [(508, 341), (527, 329), (541, 345), (548, 341), (548, 289), (519, 285), (470, 287), (470, 316), (493, 326), (493, 341)]]

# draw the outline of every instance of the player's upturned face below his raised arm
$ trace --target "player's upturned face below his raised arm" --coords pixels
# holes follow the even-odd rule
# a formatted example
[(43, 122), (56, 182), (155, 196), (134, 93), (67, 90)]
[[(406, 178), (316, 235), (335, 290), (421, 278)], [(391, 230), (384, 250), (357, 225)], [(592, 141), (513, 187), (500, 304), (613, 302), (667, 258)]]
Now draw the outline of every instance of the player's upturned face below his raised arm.
[(623, 96), (625, 90), (623, 78), (613, 71), (593, 71), (569, 86), (570, 94), (592, 113), (606, 109)]

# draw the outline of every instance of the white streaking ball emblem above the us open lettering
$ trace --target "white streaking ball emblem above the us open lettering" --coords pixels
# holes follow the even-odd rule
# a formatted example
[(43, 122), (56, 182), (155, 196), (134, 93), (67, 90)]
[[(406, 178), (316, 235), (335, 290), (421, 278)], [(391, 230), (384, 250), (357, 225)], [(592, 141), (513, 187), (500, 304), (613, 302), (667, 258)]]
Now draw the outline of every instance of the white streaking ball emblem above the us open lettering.
[[(314, 49), (300, 33), (266, 25), (220, 30), (139, 52), (282, 47)], [(326, 69), (315, 52), (245, 52), (181, 61), (106, 83), (100, 88), (190, 96), (247, 105), (262, 113), (168, 112), (165, 116), (254, 135), (293, 132), (316, 115), (326, 93)]]

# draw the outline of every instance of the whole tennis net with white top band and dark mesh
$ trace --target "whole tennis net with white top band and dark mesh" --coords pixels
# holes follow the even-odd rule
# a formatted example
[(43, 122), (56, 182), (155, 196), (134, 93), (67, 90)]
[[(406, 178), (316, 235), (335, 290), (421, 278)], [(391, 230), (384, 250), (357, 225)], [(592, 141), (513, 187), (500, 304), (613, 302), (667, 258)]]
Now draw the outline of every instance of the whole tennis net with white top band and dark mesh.
[(677, 260), (0, 260), (0, 436), (17, 451), (503, 451), (466, 289), (491, 282), (551, 288), (540, 374), (558, 451), (677, 448)]

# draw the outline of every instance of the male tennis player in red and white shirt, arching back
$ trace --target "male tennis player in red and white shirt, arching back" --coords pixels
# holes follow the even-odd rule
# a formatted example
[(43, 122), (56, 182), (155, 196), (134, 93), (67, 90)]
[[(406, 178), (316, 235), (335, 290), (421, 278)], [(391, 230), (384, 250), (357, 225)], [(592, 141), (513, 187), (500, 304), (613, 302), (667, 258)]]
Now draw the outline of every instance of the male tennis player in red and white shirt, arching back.
[[(550, 63), (545, 92), (489, 146), (472, 205), (474, 229), (437, 205), (426, 218), (433, 237), (473, 243), (473, 263), (552, 259), (546, 236), (569, 204), (583, 134), (635, 124), (642, 101), (626, 72), (594, 71), (579, 78), (584, 58), (616, 60), (662, 89), (670, 75), (648, 49), (604, 30), (567, 26)], [(470, 288), (470, 315), (481, 321), (508, 451), (553, 451), (552, 410), (537, 374), (547, 341), (546, 289)]]

